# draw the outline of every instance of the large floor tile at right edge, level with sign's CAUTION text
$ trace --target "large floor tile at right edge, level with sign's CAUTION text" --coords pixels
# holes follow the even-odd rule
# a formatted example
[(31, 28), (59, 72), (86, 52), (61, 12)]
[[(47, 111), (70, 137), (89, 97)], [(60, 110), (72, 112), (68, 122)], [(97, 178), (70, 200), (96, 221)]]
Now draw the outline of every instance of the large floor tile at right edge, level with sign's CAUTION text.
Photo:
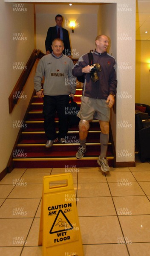
[(113, 197), (118, 215), (150, 214), (150, 201), (146, 196)]

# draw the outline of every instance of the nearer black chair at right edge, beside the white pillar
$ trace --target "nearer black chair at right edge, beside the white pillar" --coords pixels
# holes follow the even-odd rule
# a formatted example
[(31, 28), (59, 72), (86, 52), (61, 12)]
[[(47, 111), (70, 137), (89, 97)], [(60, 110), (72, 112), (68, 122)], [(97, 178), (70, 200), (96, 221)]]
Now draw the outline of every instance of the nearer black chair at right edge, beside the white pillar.
[(135, 115), (135, 143), (141, 162), (150, 159), (150, 119), (142, 122), (140, 114)]

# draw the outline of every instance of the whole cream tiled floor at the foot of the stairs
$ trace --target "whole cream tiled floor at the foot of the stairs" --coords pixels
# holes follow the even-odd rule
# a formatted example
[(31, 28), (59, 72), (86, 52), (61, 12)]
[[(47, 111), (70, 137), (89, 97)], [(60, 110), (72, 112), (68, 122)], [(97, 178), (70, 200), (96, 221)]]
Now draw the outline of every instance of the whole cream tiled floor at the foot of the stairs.
[[(38, 235), (43, 176), (67, 172), (14, 169), (0, 181), (1, 256), (42, 256)], [(99, 167), (73, 168), (71, 173), (84, 256), (149, 256), (150, 163), (137, 160), (136, 167), (111, 168), (107, 175)], [(57, 256), (57, 247), (50, 256)]]

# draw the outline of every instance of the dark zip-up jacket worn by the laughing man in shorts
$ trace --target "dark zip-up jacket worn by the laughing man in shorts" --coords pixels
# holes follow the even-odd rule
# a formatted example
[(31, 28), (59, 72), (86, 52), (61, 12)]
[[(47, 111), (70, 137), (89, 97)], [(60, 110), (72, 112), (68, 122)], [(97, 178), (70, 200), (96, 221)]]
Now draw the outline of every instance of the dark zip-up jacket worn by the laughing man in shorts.
[[(116, 78), (116, 61), (113, 56), (104, 53), (93, 53), (93, 64), (101, 65), (101, 72), (98, 72), (99, 80), (93, 82), (89, 73), (84, 73), (84, 87), (82, 90), (83, 96), (88, 96), (94, 99), (107, 99), (110, 93), (116, 94), (117, 78)], [(73, 76), (81, 76), (82, 68), (89, 65), (88, 54), (82, 55), (72, 69)]]

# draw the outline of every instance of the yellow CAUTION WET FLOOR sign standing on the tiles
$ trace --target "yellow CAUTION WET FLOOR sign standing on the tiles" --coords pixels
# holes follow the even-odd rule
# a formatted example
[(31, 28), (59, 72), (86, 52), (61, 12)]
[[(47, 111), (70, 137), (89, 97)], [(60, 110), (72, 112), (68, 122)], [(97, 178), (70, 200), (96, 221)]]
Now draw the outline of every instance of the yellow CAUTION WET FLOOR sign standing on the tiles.
[(43, 177), (38, 245), (43, 256), (84, 256), (72, 174)]

